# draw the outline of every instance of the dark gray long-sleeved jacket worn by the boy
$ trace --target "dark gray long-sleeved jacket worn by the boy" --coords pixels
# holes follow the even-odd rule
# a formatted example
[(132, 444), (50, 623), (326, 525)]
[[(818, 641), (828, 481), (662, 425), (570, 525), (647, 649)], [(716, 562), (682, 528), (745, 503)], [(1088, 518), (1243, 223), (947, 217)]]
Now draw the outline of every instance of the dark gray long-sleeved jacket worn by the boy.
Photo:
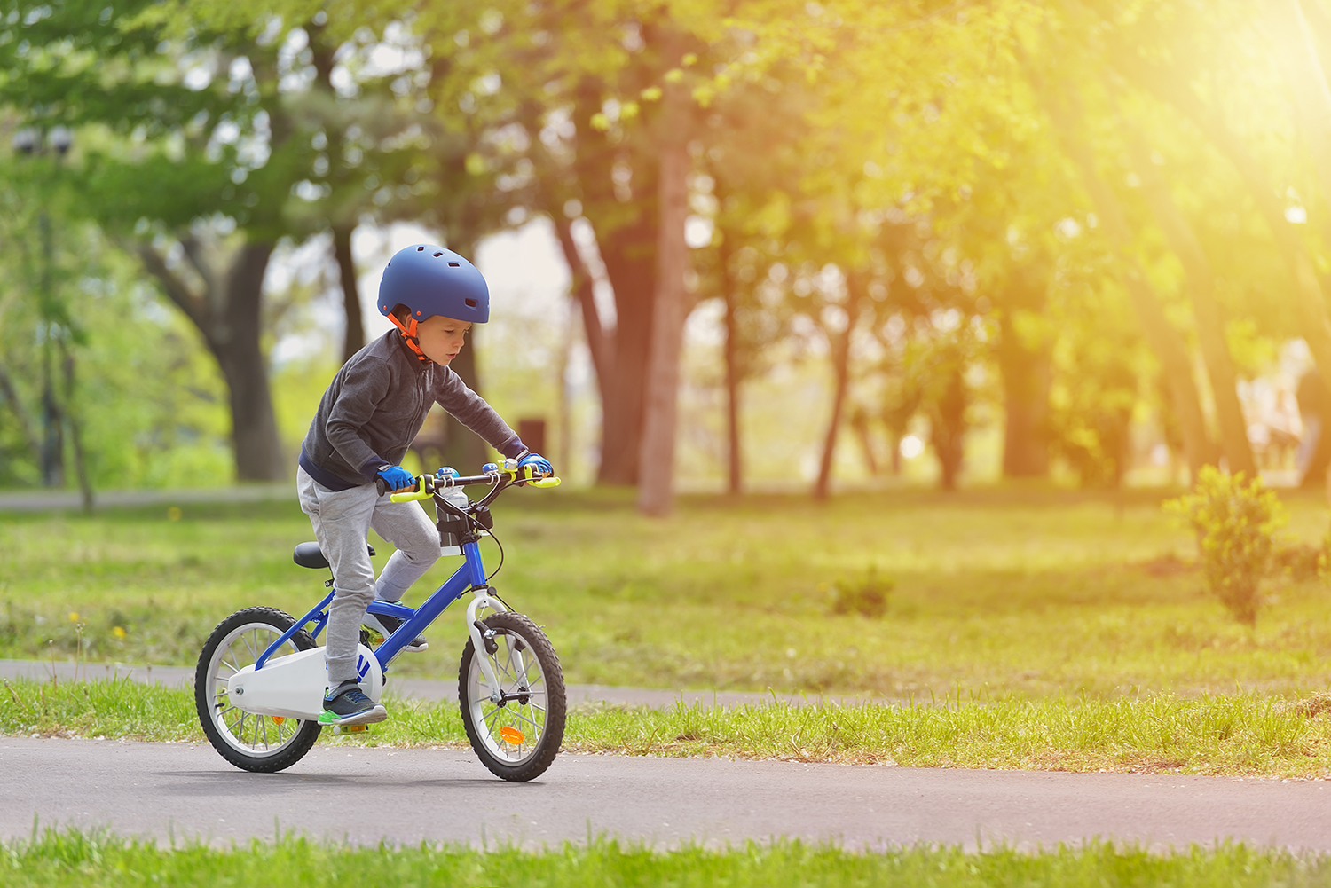
[(301, 445), (301, 467), (329, 490), (373, 483), (379, 466), (402, 462), (435, 403), (503, 455), (524, 450), (518, 434), (457, 373), (421, 361), (397, 330), (389, 330), (333, 377)]

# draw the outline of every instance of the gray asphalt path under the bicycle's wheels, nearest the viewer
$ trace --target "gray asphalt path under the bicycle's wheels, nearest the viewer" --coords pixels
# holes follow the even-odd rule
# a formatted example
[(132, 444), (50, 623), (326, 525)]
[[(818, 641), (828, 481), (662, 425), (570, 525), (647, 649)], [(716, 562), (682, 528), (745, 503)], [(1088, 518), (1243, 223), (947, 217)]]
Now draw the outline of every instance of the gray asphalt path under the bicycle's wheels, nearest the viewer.
[(1090, 837), (1331, 851), (1331, 784), (1233, 777), (560, 755), (536, 781), (470, 751), (319, 744), (282, 774), (209, 746), (0, 738), (0, 837), (39, 825), (228, 844), (294, 831), (357, 844), (540, 848), (610, 835), (658, 848), (776, 836), (849, 848), (1020, 848)]

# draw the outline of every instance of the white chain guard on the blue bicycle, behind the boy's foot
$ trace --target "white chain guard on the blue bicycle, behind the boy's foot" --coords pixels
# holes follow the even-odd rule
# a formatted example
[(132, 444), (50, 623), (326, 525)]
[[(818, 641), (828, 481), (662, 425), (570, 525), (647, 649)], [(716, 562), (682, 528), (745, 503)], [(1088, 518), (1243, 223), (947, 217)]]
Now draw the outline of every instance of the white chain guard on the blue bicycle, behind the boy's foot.
[[(329, 690), (329, 668), (323, 654), (325, 648), (314, 647), (274, 656), (258, 671), (246, 666), (226, 684), (232, 706), (256, 715), (319, 718), (323, 695)], [(365, 644), (357, 644), (355, 671), (361, 676), (361, 691), (378, 703), (383, 696), (383, 670)]]

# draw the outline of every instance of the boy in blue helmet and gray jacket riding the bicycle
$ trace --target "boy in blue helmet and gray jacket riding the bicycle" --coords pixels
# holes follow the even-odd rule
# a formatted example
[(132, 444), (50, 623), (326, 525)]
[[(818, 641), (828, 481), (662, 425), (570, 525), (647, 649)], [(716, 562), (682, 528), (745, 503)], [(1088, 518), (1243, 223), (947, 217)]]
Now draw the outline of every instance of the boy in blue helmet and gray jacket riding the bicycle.
[[(554, 474), (550, 462), (530, 453), (499, 414), (469, 389), (449, 362), (458, 355), (473, 324), (490, 320), (490, 289), (467, 260), (442, 246), (418, 244), (398, 250), (379, 282), (379, 312), (397, 330), (370, 342), (338, 370), (301, 446), (297, 491), (301, 509), (333, 567), (337, 590), (329, 606), (329, 692), (321, 724), (382, 722), (387, 711), (357, 684), (355, 656), (362, 622), (389, 635), (401, 626), (391, 616), (366, 614), (374, 598), (402, 594), (439, 558), (439, 534), (421, 503), (394, 503), (375, 490), (375, 477), (390, 490), (415, 483), (398, 462), (439, 403), (519, 469)], [(366, 549), (374, 529), (397, 547), (378, 583)], [(406, 648), (422, 651), (423, 638)]]

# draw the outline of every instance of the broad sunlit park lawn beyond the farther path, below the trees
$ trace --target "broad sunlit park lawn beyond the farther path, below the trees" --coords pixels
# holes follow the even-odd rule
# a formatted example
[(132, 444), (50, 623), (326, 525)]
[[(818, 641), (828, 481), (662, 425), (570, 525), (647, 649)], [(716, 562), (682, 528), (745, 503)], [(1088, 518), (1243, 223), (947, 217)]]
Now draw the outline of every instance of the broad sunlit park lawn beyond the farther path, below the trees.
[[(1267, 580), (1254, 630), (1210, 599), (1195, 545), (1147, 491), (981, 490), (687, 498), (669, 519), (619, 491), (514, 491), (495, 509), (495, 586), (575, 683), (848, 691), (929, 699), (1137, 692), (1307, 695), (1331, 684), (1331, 591)], [(1284, 495), (1284, 543), (1326, 530)], [(173, 518), (178, 514), (178, 518)], [(192, 664), (233, 610), (303, 612), (325, 571), (294, 503), (0, 517), (0, 656)], [(373, 538), (377, 563), (391, 547)], [(498, 563), (487, 543), (491, 567)], [(438, 584), (443, 559), (417, 587)], [(894, 580), (881, 618), (832, 614), (832, 587)], [(409, 592), (419, 600), (422, 592)], [(462, 608), (398, 674), (453, 679)]]

